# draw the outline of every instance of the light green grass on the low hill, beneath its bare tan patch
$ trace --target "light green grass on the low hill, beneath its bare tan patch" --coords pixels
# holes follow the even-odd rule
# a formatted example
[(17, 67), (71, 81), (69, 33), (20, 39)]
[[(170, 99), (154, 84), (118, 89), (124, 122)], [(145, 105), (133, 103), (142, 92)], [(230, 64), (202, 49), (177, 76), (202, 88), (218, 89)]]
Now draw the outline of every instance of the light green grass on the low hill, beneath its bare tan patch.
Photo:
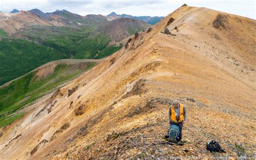
[(42, 97), (46, 92), (55, 90), (58, 85), (76, 78), (95, 64), (89, 63), (84, 69), (74, 68), (68, 64), (58, 64), (53, 74), (45, 79), (37, 81), (34, 71), (16, 79), (8, 86), (0, 88), (0, 127), (20, 118), (19, 116), (9, 116), (19, 108)]

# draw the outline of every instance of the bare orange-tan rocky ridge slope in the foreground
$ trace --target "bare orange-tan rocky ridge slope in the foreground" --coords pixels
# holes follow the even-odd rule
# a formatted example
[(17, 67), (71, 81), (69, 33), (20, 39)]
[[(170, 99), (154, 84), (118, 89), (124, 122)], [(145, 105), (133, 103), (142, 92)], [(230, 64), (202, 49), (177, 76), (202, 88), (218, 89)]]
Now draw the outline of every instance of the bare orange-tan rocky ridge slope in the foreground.
[[(0, 157), (255, 155), (255, 33), (253, 19), (183, 6), (1, 128)], [(158, 143), (173, 99), (187, 106), (184, 146)]]

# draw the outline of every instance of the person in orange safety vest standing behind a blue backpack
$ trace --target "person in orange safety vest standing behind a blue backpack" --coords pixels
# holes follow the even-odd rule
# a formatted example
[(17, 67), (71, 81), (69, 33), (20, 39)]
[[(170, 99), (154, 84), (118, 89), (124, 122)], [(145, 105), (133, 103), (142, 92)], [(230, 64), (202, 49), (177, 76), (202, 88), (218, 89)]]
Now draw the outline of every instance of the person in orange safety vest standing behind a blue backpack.
[(178, 100), (173, 100), (172, 105), (169, 108), (169, 124), (179, 126), (179, 141), (182, 138), (182, 128), (187, 121), (186, 107), (180, 104)]

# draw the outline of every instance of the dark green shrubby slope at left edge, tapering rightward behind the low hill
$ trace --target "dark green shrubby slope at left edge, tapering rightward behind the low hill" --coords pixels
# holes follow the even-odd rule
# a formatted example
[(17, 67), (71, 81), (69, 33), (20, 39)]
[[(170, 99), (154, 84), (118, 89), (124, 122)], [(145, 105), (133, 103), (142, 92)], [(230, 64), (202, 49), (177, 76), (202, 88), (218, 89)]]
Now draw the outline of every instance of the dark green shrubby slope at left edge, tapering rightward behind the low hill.
[(2, 38), (0, 48), (0, 85), (44, 63), (67, 58), (56, 49), (21, 39)]

